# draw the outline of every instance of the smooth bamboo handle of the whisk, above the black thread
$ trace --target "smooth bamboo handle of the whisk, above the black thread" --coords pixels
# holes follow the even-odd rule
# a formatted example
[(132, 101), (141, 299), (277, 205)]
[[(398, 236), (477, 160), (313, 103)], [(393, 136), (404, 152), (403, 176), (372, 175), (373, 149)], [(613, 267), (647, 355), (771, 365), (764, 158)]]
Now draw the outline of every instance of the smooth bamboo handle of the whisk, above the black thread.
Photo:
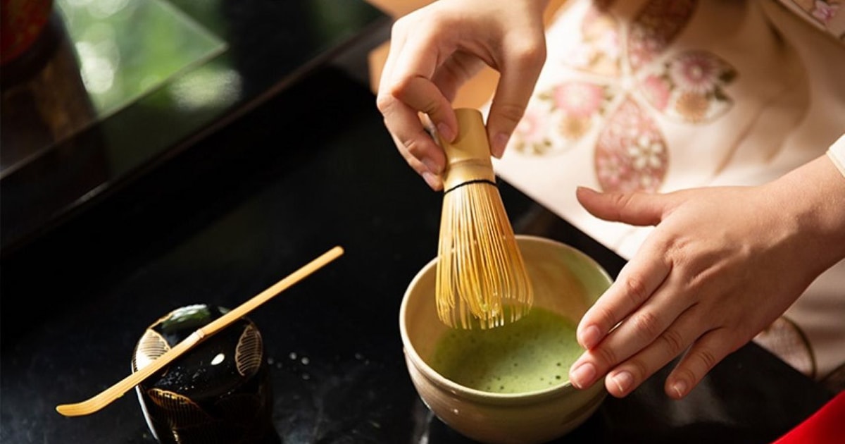
[(446, 192), (462, 184), (475, 181), (496, 183), (493, 162), (490, 160), (490, 145), (482, 113), (473, 108), (457, 108), (458, 135), (455, 141), (440, 140), (446, 153), (448, 165), (444, 172)]

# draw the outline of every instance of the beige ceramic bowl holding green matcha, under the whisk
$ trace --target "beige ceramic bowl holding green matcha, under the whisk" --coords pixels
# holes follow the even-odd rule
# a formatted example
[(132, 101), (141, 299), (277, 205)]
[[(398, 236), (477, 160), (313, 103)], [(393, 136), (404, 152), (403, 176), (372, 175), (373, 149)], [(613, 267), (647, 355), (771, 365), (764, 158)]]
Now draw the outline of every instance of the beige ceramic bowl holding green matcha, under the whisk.
[(575, 326), (611, 278), (581, 251), (548, 238), (517, 235), (534, 288), (523, 319), (491, 330), (451, 329), (434, 303), (434, 259), (402, 299), (400, 331), (408, 372), (433, 414), (488, 443), (538, 443), (581, 425), (607, 395), (569, 382), (582, 350)]

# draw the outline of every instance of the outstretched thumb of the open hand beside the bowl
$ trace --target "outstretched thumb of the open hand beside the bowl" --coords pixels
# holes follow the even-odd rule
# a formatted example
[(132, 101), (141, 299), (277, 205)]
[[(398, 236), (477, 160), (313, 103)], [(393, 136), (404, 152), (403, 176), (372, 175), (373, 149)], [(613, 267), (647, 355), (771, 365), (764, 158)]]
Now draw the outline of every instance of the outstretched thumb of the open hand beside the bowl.
[(591, 215), (610, 222), (657, 225), (668, 201), (664, 195), (643, 192), (602, 193), (586, 187), (575, 189), (575, 197)]

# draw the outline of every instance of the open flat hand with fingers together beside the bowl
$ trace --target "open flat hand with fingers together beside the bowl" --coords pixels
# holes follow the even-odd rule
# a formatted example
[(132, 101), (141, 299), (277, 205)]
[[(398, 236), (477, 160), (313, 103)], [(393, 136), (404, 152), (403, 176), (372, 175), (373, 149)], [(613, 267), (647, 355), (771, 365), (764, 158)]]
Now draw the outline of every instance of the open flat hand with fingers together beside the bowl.
[(685, 352), (665, 384), (684, 397), (845, 257), (845, 179), (826, 158), (759, 187), (577, 197), (599, 218), (656, 226), (578, 327), (587, 351), (570, 381), (606, 375), (615, 397)]

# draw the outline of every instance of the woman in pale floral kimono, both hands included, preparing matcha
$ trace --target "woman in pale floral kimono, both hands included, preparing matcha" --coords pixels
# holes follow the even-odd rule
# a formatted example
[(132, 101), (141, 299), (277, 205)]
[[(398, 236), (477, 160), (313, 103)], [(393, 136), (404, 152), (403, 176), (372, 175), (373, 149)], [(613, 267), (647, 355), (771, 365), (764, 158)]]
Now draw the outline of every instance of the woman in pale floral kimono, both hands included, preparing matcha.
[(439, 0), (395, 23), (378, 107), (426, 183), (445, 159), (419, 116), (454, 138), (492, 67), (497, 173), (629, 260), (578, 326), (575, 386), (624, 397), (683, 354), (681, 398), (754, 339), (842, 389), (845, 12), (804, 3), (571, 0), (544, 27), (548, 1)]

